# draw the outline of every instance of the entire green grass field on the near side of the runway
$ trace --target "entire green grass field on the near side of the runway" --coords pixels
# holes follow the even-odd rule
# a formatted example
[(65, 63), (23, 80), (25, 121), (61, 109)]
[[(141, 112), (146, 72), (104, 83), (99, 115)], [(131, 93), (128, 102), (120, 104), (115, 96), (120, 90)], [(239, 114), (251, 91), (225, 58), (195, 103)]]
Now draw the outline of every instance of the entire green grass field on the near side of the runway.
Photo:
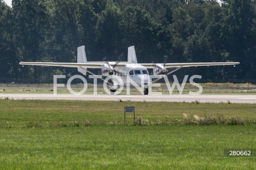
[[(144, 124), (133, 125), (124, 106)], [(0, 169), (255, 169), (256, 124), (186, 124), (199, 117), (256, 120), (256, 105), (0, 100)]]

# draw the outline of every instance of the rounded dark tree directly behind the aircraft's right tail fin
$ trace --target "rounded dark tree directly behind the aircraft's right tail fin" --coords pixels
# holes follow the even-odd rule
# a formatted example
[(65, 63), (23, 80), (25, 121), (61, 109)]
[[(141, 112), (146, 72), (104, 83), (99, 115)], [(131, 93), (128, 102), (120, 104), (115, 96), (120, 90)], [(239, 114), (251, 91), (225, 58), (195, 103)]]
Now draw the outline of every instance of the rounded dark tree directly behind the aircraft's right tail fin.
[(122, 14), (121, 27), (124, 47), (127, 49), (134, 45), (139, 62), (151, 61), (156, 57), (157, 24), (147, 11), (137, 6), (127, 6)]

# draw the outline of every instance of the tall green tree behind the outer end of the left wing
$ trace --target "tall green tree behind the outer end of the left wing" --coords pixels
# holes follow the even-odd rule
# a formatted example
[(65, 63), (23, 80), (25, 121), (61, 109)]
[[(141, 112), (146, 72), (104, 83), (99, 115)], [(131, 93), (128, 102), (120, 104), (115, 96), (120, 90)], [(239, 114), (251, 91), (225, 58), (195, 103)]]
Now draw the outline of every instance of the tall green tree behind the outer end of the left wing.
[[(40, 44), (47, 28), (46, 7), (43, 0), (13, 0), (13, 28), (15, 52), (19, 61), (41, 61)], [(19, 65), (15, 65), (19, 67)], [(20, 77), (35, 78), (41, 68), (24, 67)]]

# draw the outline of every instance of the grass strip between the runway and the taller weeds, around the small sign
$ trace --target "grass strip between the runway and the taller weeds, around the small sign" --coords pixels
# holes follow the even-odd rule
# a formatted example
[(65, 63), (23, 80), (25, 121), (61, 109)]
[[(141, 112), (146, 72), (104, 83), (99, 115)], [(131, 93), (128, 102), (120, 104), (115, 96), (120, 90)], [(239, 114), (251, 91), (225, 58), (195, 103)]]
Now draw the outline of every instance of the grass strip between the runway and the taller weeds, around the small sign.
[[(0, 100), (0, 105), (0, 127), (3, 128), (23, 128), (29, 122), (49, 124), (86, 120), (92, 124), (120, 124), (124, 120), (124, 106), (135, 106), (135, 116), (141, 115), (150, 122), (183, 120), (183, 113), (256, 119), (255, 104), (9, 99)], [(131, 123), (133, 114), (127, 113), (126, 117)]]

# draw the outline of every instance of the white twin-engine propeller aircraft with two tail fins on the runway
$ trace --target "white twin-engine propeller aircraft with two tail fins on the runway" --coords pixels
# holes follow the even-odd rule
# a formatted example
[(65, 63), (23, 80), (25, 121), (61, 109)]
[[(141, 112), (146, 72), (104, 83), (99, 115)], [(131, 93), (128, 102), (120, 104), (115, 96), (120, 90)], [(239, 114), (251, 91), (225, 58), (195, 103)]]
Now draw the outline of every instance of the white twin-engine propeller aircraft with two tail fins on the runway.
[[(77, 48), (77, 63), (51, 63), (51, 62), (20, 62), (21, 65), (43, 65), (43, 66), (61, 66), (61, 67), (77, 67), (78, 71), (86, 75), (87, 70), (90, 69), (101, 69), (101, 73), (105, 77), (110, 77), (114, 83), (110, 88), (110, 92), (116, 92), (118, 87), (126, 86), (131, 82), (127, 80), (134, 81), (139, 84), (140, 88), (144, 89), (144, 95), (148, 95), (148, 86), (150, 83), (154, 83), (159, 79), (181, 69), (182, 67), (191, 66), (210, 66), (210, 65), (234, 65), (239, 64), (239, 62), (219, 62), (219, 63), (138, 63), (135, 53), (134, 46), (128, 48), (128, 60), (127, 62), (87, 62), (85, 47), (81, 46)], [(174, 70), (168, 71), (167, 69), (173, 68)], [(162, 75), (158, 79), (149, 82), (149, 73), (147, 69), (153, 69), (154, 75)], [(95, 74), (93, 74), (95, 75)], [(97, 76), (97, 75), (95, 75)], [(123, 84), (120, 84), (116, 78), (121, 78)], [(98, 77), (102, 79), (101, 77)], [(102, 79), (105, 81), (104, 79)], [(131, 84), (134, 84), (131, 83)]]

